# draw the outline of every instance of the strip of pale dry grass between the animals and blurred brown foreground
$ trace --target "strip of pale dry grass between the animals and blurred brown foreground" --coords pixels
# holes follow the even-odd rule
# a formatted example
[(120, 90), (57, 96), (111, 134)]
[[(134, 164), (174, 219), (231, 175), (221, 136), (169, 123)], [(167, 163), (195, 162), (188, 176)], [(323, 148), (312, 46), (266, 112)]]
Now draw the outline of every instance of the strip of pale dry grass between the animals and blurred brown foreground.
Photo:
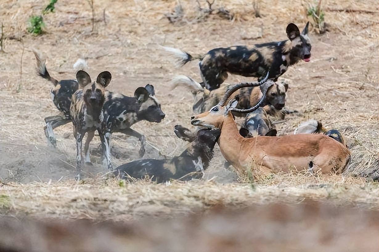
[(147, 181), (124, 183), (88, 179), (83, 183), (50, 182), (2, 187), (8, 214), (49, 218), (128, 220), (140, 216), (176, 216), (213, 206), (244, 207), (304, 200), (379, 210), (379, 185), (359, 178), (278, 175), (265, 183)]

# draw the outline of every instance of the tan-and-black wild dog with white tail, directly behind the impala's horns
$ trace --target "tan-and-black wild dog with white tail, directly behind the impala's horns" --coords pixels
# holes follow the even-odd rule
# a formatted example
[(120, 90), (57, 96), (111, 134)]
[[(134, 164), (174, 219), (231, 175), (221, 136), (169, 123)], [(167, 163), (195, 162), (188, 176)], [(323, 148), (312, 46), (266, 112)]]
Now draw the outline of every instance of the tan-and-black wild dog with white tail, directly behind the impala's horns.
[[(209, 111), (213, 106), (217, 105), (224, 94), (234, 86), (222, 85), (218, 89), (209, 91), (208, 89), (202, 88), (200, 83), (197, 83), (192, 78), (189, 78), (185, 75), (177, 75), (172, 79), (171, 84), (172, 89), (176, 88), (177, 86), (185, 86), (192, 92), (194, 95), (194, 105), (192, 106), (194, 113)], [(229, 99), (234, 99), (236, 96), (238, 96), (240, 102), (238, 103), (237, 108), (247, 109), (257, 104), (263, 95), (261, 89), (266, 89), (268, 95), (262, 106), (271, 105), (276, 110), (282, 110), (285, 105), (285, 95), (288, 90), (288, 83), (285, 81), (278, 81), (274, 83), (272, 80), (269, 80), (263, 85), (269, 86), (268, 89), (266, 89), (266, 87), (241, 88), (230, 95)], [(197, 99), (196, 97), (199, 93), (202, 95), (200, 96), (200, 99)], [(235, 115), (238, 116), (238, 114)], [(242, 116), (245, 116), (245, 114)]]

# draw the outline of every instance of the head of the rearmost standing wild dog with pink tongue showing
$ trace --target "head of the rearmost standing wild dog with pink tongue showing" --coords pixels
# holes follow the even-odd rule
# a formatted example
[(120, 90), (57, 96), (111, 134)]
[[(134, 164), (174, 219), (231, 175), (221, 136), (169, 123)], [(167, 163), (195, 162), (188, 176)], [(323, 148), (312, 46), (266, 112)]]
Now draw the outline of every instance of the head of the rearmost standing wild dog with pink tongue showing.
[(292, 49), (291, 55), (304, 60), (305, 62), (310, 61), (310, 50), (312, 46), (310, 44), (310, 39), (308, 37), (308, 25), (305, 25), (304, 30), (300, 33), (299, 28), (294, 23), (290, 23), (287, 26), (287, 36), (291, 41)]

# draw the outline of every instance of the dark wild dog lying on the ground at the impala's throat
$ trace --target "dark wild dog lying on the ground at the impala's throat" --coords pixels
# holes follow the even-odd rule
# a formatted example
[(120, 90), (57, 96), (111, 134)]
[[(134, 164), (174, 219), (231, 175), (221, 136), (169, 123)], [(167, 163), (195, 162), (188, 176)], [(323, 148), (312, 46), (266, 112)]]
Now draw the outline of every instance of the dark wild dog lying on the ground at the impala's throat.
[[(185, 132), (190, 131), (185, 129), (184, 135)], [(144, 178), (148, 175), (157, 183), (170, 179), (187, 181), (192, 178), (201, 178), (213, 157), (213, 147), (219, 136), (218, 129), (201, 129), (197, 131), (190, 146), (179, 156), (162, 160), (143, 159), (122, 164), (115, 169), (114, 174), (125, 178), (128, 175), (134, 178)], [(188, 137), (191, 136), (186, 136)]]

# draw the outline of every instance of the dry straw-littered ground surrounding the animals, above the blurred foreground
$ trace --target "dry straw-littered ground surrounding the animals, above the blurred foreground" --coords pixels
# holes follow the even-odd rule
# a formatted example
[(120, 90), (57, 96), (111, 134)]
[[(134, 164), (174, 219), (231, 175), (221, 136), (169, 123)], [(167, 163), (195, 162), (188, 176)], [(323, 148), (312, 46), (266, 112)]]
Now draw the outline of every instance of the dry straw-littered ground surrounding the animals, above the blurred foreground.
[[(206, 6), (204, 1), (200, 2)], [(121, 199), (129, 200), (123, 197), (156, 197), (151, 201), (154, 207), (149, 211), (153, 212), (152, 215), (159, 215), (162, 196), (178, 193), (180, 199), (170, 198), (168, 208), (169, 214), (180, 214), (193, 211), (185, 202), (199, 196), (180, 193), (192, 189), (215, 198), (222, 192), (223, 197), (236, 206), (256, 203), (254, 199), (236, 197), (238, 193), (235, 192), (239, 190), (248, 195), (259, 192), (260, 197), (268, 199), (261, 203), (279, 199), (298, 203), (308, 198), (330, 201), (333, 199), (330, 195), (337, 192), (338, 204), (352, 202), (359, 207), (378, 209), (377, 184), (370, 179), (352, 177), (370, 174), (378, 168), (377, 0), (356, 3), (323, 1), (329, 31), (323, 35), (311, 31), (311, 62), (299, 63), (283, 75), (291, 80), (286, 106), (299, 113), (287, 116), (287, 121), (277, 124), (279, 133), (291, 133), (307, 119), (318, 119), (327, 128), (340, 130), (352, 152), (351, 165), (343, 176), (318, 178), (279, 174), (267, 181), (247, 183), (244, 178), (238, 179), (232, 169), (223, 167), (224, 160), (216, 147), (215, 158), (203, 181), (175, 183), (175, 186), (144, 182), (142, 185), (127, 185), (128, 189), (113, 180), (99, 182), (102, 178), (98, 173), (104, 170), (96, 164), (96, 158), (95, 166), (86, 168), (87, 176), (96, 182), (87, 178), (84, 185), (77, 185), (72, 181), (75, 164), (72, 125), (57, 128), (57, 148), (47, 147), (43, 119), (56, 114), (57, 110), (50, 100), (52, 84), (36, 75), (31, 49), (37, 48), (47, 56), (47, 69), (58, 80), (74, 78), (72, 65), (78, 58), (86, 58), (92, 78), (103, 70), (112, 73), (109, 86), (112, 91), (132, 95), (139, 86), (154, 85), (166, 117), (160, 124), (139, 122), (133, 128), (144, 133), (149, 142), (146, 157), (159, 158), (181, 152), (184, 143), (176, 138), (173, 127), (175, 124), (189, 126), (192, 114), (191, 95), (181, 88), (169, 91), (169, 80), (176, 74), (196, 80), (200, 77), (197, 63), (177, 69), (171, 56), (158, 51), (156, 44), (201, 54), (216, 47), (284, 40), (288, 23), (294, 22), (302, 29), (308, 19), (300, 0), (291, 1), (291, 5), (285, 1), (262, 0), (261, 18), (254, 17), (252, 1), (216, 1), (216, 8), (224, 6), (236, 14), (232, 21), (217, 15), (204, 19), (197, 10), (196, 1), (182, 1), (185, 16), (174, 24), (169, 23), (164, 14), (171, 12), (177, 1), (95, 0), (94, 3), (94, 32), (91, 32), (91, 9), (86, 1), (58, 1), (55, 13), (44, 17), (46, 33), (42, 36), (32, 36), (25, 30), (28, 17), (39, 14), (45, 1), (3, 0), (0, 3), (0, 22), (4, 24), (6, 37), (6, 53), (0, 53), (0, 180), (4, 183), (0, 187), (0, 196), (6, 201), (2, 205), (0, 198), (0, 209), (6, 209), (5, 213), (50, 217), (59, 213), (63, 214), (61, 217), (98, 219), (102, 218), (101, 214), (92, 217), (92, 213), (86, 212), (88, 204), (75, 199), (85, 199), (88, 194), (91, 199), (89, 209), (99, 214), (113, 209), (103, 203), (93, 203), (97, 194), (103, 194), (101, 198), (105, 201), (114, 199), (117, 204), (122, 202)], [(243, 80), (246, 78), (230, 76), (227, 82)], [(92, 149), (97, 148), (98, 142), (92, 142)], [(125, 139), (115, 134), (113, 146), (115, 165), (138, 158), (139, 143), (134, 138)], [(96, 152), (93, 155), (98, 157)], [(38, 183), (29, 183), (34, 181)], [(312, 192), (304, 188), (312, 188)], [(116, 194), (111, 193), (113, 191)], [(159, 193), (154, 195), (155, 191)], [(301, 196), (297, 196), (299, 194)], [(194, 206), (208, 207), (206, 201), (199, 202)], [(62, 204), (66, 204), (66, 210), (60, 212)], [(135, 209), (132, 203), (122, 209), (124, 218), (139, 216)], [(82, 211), (84, 215), (77, 214)], [(147, 213), (141, 215), (144, 214)], [(115, 218), (112, 211), (105, 215), (107, 219)]]

